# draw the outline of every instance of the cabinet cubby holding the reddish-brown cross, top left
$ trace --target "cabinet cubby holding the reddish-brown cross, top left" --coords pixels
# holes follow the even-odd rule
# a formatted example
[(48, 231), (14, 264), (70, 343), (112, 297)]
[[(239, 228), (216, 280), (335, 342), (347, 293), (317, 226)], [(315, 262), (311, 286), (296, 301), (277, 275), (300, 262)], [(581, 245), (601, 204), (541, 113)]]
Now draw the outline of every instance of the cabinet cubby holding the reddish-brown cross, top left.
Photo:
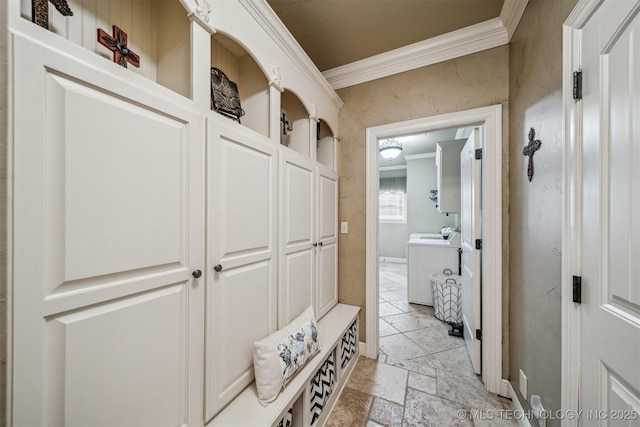
[[(22, 0), (21, 15), (31, 21), (31, 1)], [(73, 16), (50, 7), (48, 26), (57, 34), (113, 61), (113, 52), (98, 40), (98, 29), (117, 38), (117, 27), (126, 34), (126, 46), (139, 57), (126, 62), (128, 70), (182, 96), (190, 97), (190, 22), (179, 0), (78, 0), (70, 2)]]

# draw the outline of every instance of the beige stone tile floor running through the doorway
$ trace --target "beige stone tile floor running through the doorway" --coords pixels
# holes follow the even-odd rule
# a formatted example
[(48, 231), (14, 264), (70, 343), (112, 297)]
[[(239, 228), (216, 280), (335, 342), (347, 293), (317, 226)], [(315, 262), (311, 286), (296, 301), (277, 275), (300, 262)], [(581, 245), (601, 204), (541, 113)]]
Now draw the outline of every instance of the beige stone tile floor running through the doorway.
[(360, 357), (326, 426), (517, 426), (509, 400), (473, 372), (464, 340), (432, 307), (407, 302), (406, 264), (380, 263), (379, 314), (380, 356)]

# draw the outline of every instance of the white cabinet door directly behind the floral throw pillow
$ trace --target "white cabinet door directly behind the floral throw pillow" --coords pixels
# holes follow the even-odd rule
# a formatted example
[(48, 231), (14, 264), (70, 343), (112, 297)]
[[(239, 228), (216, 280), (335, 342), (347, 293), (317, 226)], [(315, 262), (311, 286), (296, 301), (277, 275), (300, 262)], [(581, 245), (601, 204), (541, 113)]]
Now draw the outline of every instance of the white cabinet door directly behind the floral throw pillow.
[(207, 122), (208, 421), (253, 381), (253, 343), (277, 328), (278, 151), (230, 119)]

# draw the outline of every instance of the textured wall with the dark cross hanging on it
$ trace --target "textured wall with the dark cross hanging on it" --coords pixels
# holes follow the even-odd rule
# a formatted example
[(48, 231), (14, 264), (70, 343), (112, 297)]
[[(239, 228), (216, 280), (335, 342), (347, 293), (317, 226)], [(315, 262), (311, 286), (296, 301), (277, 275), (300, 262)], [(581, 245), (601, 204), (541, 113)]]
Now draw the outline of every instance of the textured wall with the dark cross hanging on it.
[[(575, 4), (529, 0), (509, 55), (510, 378), (517, 391), (522, 369), (529, 394), (552, 411), (561, 386), (562, 23)], [(542, 146), (529, 182), (522, 148), (531, 127)]]

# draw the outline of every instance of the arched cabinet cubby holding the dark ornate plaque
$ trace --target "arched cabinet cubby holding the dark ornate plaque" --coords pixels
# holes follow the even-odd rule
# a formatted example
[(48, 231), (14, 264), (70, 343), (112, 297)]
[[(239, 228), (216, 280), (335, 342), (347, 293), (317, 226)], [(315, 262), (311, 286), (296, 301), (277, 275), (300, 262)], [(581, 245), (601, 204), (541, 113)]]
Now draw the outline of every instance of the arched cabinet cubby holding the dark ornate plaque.
[[(269, 136), (269, 81), (253, 57), (238, 42), (222, 34), (211, 37), (211, 67), (235, 83), (244, 114), (240, 123)], [(213, 109), (213, 104), (212, 104)]]

